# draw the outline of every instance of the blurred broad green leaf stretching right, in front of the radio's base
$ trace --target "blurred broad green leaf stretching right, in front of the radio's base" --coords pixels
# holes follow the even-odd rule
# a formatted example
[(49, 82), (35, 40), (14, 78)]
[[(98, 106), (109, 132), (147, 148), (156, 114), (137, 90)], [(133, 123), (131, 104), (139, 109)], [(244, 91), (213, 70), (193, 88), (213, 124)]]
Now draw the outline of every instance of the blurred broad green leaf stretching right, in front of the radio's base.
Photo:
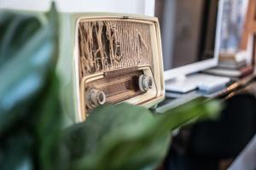
[[(213, 110), (212, 110), (213, 109)], [(105, 105), (63, 139), (68, 169), (154, 169), (166, 156), (171, 131), (195, 118), (218, 115), (216, 101), (197, 99), (165, 114), (134, 105)]]

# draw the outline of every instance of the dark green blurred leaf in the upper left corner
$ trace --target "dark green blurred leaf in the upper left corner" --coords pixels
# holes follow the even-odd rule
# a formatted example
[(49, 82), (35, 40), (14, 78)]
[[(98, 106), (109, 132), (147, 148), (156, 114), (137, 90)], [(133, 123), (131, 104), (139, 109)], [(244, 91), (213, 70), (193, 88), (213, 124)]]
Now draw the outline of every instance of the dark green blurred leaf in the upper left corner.
[[(0, 12), (0, 68), (20, 52), (24, 42), (30, 39), (42, 26), (41, 22), (29, 14)], [(11, 21), (10, 21), (11, 20)]]

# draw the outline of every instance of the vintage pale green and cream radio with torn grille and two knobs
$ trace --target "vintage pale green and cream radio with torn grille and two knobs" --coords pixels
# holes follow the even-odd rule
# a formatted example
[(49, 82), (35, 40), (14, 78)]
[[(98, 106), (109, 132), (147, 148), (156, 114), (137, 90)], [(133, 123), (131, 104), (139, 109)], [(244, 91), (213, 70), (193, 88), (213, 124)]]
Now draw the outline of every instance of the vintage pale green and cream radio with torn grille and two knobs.
[(154, 17), (61, 14), (61, 99), (67, 120), (98, 105), (150, 108), (164, 99), (160, 27)]

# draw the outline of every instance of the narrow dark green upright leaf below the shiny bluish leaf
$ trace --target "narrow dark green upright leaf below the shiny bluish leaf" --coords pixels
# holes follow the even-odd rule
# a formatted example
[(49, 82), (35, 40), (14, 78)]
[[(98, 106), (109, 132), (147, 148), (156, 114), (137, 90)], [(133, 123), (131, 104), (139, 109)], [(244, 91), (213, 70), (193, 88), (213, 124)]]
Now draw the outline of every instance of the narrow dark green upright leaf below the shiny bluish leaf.
[(55, 170), (60, 163), (61, 105), (58, 88), (58, 78), (53, 74), (34, 106), (37, 115), (32, 116), (32, 122), (36, 122), (33, 137), (36, 138), (35, 151), (40, 169)]

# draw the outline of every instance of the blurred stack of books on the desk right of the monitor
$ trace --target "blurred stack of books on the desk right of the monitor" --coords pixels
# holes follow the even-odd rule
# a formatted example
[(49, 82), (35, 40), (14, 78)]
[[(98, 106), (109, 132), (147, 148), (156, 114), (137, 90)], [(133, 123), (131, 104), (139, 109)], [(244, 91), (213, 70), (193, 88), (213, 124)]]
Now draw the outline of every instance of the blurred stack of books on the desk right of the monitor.
[(247, 52), (222, 52), (219, 55), (218, 67), (207, 70), (213, 75), (241, 78), (253, 73), (253, 65), (247, 64)]

